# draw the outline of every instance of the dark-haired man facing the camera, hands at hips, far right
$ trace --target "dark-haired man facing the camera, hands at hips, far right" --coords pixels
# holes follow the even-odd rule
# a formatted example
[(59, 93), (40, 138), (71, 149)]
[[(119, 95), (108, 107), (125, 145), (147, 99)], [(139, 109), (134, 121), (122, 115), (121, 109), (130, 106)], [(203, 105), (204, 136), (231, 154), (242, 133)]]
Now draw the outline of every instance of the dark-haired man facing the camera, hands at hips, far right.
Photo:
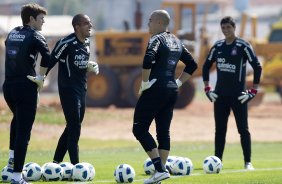
[[(251, 45), (235, 36), (236, 25), (233, 18), (224, 17), (220, 25), (225, 39), (214, 44), (203, 66), (205, 92), (210, 101), (214, 102), (215, 155), (222, 160), (227, 121), (232, 109), (241, 138), (245, 169), (253, 170), (247, 103), (257, 93), (262, 69)], [(246, 90), (247, 62), (254, 70), (254, 77), (253, 87)], [(217, 71), (215, 89), (209, 85), (209, 70), (213, 63), (216, 64)]]

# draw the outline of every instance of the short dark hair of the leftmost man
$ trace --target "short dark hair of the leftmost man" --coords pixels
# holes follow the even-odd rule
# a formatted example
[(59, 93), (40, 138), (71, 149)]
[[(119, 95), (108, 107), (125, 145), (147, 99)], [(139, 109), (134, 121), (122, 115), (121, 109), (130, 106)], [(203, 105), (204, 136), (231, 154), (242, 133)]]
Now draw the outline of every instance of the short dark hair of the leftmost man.
[(36, 3), (30, 3), (30, 4), (23, 5), (22, 10), (21, 10), (21, 18), (22, 18), (23, 25), (29, 23), (30, 16), (36, 19), (37, 15), (41, 13), (44, 15), (47, 15), (47, 10)]

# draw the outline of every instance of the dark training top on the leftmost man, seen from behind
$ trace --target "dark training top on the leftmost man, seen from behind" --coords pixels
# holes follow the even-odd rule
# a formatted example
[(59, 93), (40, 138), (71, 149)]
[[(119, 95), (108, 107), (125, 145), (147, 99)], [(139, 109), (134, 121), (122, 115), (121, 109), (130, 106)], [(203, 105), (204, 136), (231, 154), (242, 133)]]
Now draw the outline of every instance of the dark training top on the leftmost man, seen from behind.
[(5, 77), (8, 79), (35, 76), (38, 53), (42, 56), (40, 66), (48, 67), (50, 52), (46, 40), (39, 31), (28, 25), (14, 28), (8, 34), (5, 46)]

